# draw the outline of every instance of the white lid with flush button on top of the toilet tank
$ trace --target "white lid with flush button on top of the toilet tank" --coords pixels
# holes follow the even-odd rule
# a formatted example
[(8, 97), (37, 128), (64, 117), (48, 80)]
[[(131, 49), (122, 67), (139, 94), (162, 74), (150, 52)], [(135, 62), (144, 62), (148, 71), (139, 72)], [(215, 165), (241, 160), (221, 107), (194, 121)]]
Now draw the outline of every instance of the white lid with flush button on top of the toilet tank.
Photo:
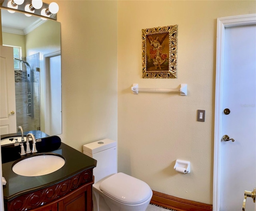
[(115, 146), (116, 146), (116, 141), (106, 138), (106, 139), (102, 139), (102, 140), (92, 142), (89, 144), (84, 144), (83, 150), (90, 154), (94, 154), (97, 152), (101, 152), (103, 150), (110, 149)]

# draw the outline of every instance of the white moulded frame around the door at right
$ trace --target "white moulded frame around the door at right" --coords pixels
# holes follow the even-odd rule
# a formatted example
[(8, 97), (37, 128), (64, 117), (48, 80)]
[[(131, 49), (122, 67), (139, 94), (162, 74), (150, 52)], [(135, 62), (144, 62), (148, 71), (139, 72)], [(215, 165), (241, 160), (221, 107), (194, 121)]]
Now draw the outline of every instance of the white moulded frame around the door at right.
[[(256, 24), (256, 14), (217, 18), (216, 37), (216, 81), (214, 114), (214, 166), (213, 166), (213, 211), (220, 211), (220, 164), (222, 137), (222, 90), (224, 71), (224, 37), (225, 28), (249, 26)], [(241, 199), (242, 200), (242, 199)]]

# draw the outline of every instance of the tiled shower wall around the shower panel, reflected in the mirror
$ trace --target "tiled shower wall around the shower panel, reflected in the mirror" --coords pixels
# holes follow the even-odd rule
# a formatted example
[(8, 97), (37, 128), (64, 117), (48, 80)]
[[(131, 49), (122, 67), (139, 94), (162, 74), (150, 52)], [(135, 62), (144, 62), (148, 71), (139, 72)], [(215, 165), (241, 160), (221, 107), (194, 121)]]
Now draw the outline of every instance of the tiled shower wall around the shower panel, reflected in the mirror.
[[(22, 58), (23, 59), (23, 58)], [(24, 59), (25, 60), (25, 59)], [(24, 131), (37, 130), (40, 127), (39, 118), (39, 73), (33, 70), (34, 87), (34, 117), (27, 116), (28, 80), (26, 65), (22, 64), (22, 71), (14, 70), (16, 95), (16, 121), (17, 127), (22, 126)]]

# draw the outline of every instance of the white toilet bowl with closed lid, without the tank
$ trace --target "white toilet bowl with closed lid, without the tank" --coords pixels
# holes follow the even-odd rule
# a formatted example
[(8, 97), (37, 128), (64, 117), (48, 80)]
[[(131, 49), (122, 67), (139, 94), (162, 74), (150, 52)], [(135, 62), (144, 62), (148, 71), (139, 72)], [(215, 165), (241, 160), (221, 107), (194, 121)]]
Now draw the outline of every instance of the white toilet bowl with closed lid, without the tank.
[(98, 181), (92, 189), (94, 211), (145, 211), (152, 198), (147, 183), (121, 172)]

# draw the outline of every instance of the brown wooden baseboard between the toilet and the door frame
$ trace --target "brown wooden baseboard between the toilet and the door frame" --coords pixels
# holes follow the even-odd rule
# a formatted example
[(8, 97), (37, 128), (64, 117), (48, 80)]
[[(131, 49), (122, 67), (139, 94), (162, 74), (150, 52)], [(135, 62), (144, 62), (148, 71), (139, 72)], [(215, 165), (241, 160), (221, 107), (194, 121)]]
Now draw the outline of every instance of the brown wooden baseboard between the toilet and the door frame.
[(153, 191), (152, 204), (176, 211), (212, 211), (212, 205)]

